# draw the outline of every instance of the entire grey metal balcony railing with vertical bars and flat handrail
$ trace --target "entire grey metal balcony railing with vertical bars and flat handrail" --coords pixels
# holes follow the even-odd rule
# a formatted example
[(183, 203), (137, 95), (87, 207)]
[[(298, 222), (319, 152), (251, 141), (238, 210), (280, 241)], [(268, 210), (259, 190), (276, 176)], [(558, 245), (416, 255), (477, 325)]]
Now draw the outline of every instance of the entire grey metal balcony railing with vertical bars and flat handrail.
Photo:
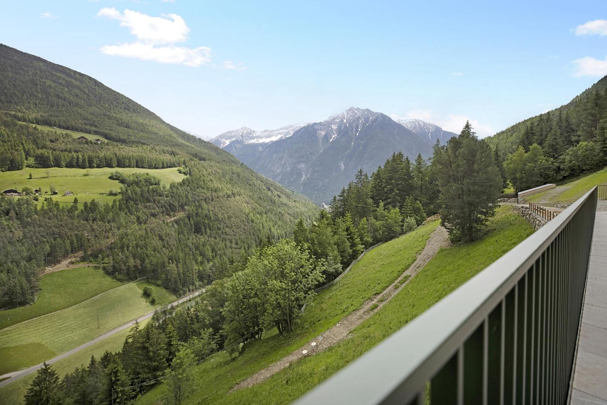
[(299, 404), (565, 404), (597, 196), (594, 187)]

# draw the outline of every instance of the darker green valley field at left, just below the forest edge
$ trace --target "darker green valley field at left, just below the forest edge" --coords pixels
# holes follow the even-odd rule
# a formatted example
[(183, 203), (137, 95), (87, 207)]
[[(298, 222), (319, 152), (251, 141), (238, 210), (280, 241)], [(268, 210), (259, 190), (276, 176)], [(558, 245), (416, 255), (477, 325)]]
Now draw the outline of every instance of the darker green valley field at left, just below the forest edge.
[(97, 266), (50, 273), (40, 279), (35, 303), (0, 311), (0, 329), (81, 303), (122, 284)]

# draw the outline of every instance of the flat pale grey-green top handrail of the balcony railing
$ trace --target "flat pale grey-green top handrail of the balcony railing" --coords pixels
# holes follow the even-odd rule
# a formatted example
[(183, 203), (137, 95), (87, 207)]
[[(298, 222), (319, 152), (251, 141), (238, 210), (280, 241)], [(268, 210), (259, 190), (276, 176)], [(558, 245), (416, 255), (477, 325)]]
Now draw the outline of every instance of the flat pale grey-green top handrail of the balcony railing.
[[(406, 404), (504, 300), (580, 207), (593, 187), (552, 221), (473, 276), (358, 360), (320, 384), (300, 404)], [(594, 196), (595, 198), (595, 196)]]

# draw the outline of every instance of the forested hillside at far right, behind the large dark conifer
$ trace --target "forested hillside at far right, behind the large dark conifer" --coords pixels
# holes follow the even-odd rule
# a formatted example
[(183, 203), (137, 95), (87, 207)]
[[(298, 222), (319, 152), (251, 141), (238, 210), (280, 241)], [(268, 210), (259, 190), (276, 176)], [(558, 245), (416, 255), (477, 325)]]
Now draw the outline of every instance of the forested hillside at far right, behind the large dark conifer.
[(515, 191), (607, 166), (607, 76), (558, 109), (487, 138)]

